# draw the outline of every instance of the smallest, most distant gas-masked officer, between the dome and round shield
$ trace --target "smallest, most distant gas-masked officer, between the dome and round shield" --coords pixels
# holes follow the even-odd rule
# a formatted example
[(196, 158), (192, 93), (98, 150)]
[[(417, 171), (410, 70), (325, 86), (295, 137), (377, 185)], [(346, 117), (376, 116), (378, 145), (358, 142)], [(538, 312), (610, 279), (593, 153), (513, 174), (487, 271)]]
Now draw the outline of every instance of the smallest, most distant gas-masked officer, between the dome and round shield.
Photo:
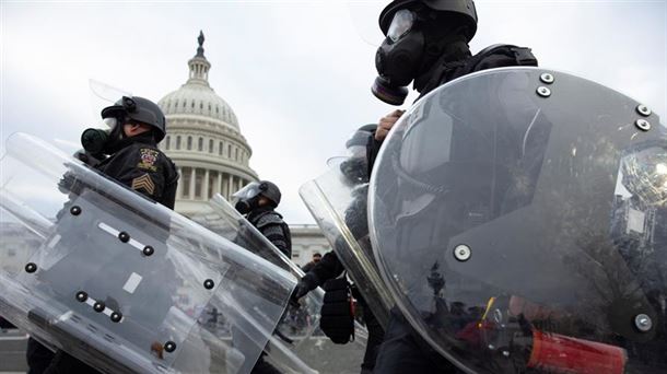
[(236, 194), (236, 210), (262, 233), (288, 258), (292, 257), (290, 226), (276, 211), (281, 198), (280, 189), (269, 180), (251, 182)]

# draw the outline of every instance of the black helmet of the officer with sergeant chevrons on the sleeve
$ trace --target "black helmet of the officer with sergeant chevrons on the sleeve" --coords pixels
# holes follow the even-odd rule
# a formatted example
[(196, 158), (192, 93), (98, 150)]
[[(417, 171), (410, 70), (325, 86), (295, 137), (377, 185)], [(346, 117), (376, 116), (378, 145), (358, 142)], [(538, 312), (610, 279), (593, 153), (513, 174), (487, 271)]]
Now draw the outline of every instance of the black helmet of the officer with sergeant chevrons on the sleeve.
[(122, 96), (115, 105), (102, 109), (102, 118), (118, 118), (121, 124), (136, 121), (153, 128), (155, 142), (166, 135), (166, 120), (157, 104), (139, 96)]

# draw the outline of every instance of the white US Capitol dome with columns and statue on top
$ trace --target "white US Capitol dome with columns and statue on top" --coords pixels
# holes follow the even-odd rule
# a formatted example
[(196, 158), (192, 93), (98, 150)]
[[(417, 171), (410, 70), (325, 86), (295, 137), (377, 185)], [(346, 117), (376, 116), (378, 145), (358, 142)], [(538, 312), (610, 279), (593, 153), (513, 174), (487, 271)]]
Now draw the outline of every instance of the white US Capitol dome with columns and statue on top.
[(248, 164), (253, 150), (241, 133), (238, 118), (209, 84), (211, 63), (203, 56), (203, 39), (200, 32), (187, 82), (157, 102), (167, 124), (160, 149), (178, 168), (175, 210), (185, 215), (200, 211), (215, 194), (229, 200), (241, 187), (258, 180)]

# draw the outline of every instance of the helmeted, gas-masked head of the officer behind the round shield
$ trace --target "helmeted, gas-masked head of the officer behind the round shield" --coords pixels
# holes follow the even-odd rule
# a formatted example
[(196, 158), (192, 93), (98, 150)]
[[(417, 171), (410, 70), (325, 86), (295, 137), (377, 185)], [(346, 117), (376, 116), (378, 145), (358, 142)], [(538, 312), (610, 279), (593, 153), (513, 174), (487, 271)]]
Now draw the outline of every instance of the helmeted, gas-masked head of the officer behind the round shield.
[(413, 79), (442, 55), (456, 55), (448, 46), (472, 39), (477, 11), (472, 0), (395, 0), (382, 11), (379, 28), (386, 38), (375, 55), (372, 92), (401, 105)]

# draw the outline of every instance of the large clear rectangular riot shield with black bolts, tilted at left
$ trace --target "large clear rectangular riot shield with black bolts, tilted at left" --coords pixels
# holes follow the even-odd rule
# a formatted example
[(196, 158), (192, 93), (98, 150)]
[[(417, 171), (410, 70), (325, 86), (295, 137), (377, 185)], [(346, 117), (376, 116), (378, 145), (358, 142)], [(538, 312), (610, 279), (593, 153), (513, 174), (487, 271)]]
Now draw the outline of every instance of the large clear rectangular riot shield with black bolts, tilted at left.
[(0, 170), (0, 315), (104, 372), (250, 372), (292, 274), (37, 138)]

